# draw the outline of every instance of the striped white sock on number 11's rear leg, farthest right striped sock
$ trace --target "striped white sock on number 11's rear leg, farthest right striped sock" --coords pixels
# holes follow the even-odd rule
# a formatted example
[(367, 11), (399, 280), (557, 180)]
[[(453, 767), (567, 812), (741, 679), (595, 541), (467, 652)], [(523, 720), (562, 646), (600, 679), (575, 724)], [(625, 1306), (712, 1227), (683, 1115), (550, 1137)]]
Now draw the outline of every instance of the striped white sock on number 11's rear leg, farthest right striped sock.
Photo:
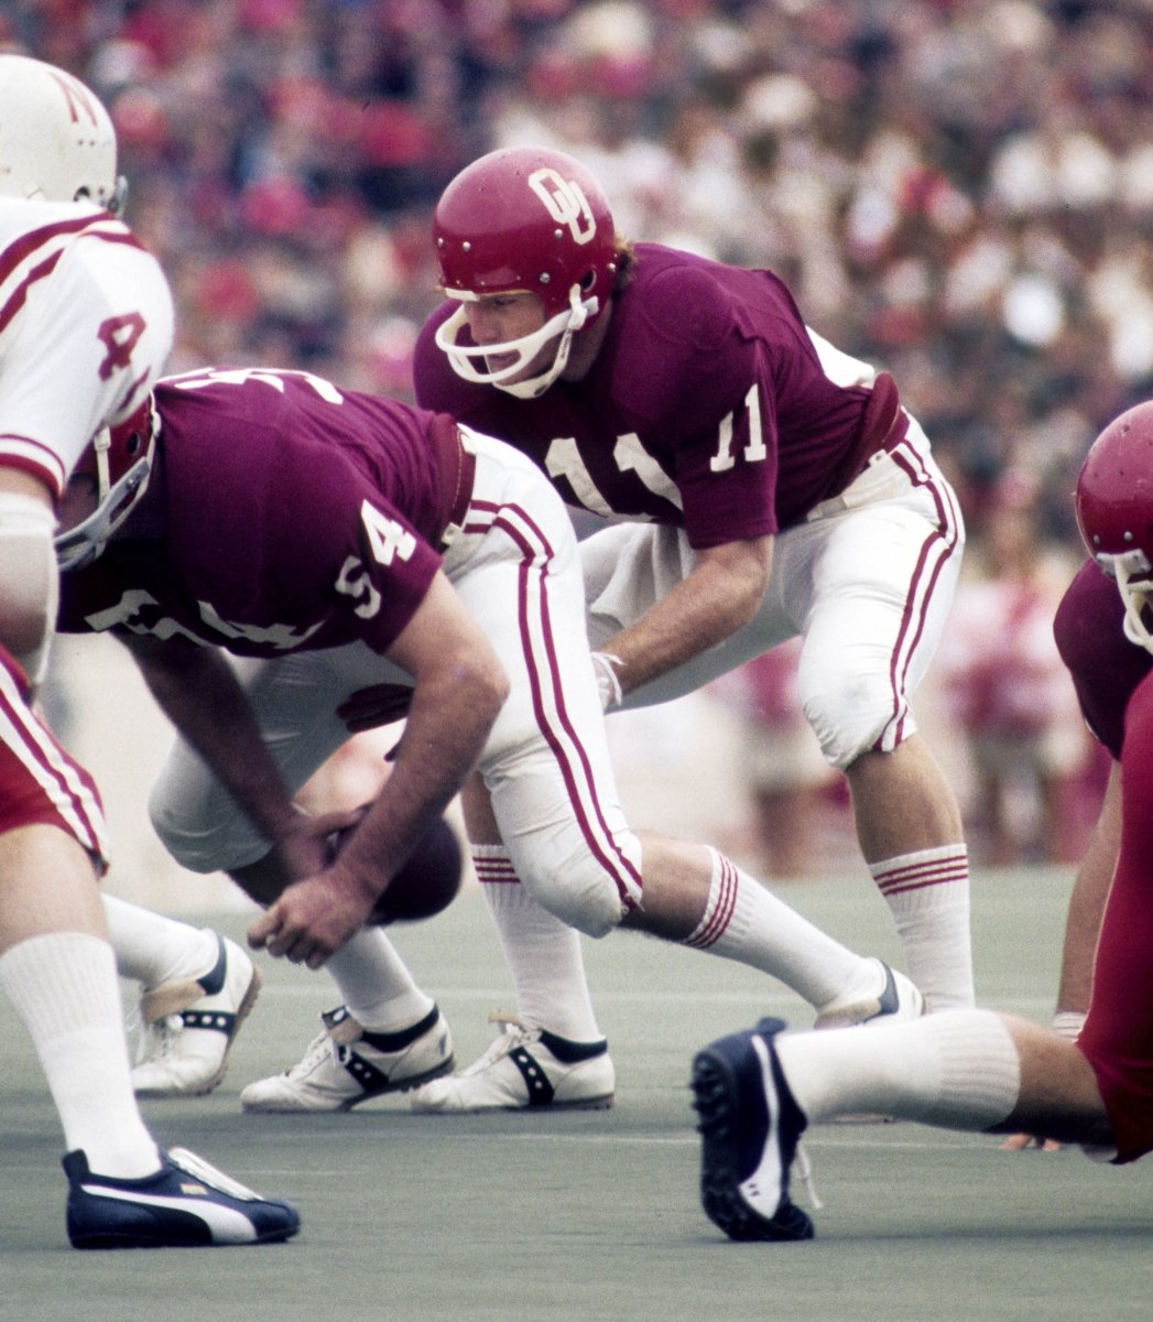
[(904, 949), (908, 976), (930, 1010), (968, 1010), (974, 1002), (969, 939), (969, 855), (943, 845), (870, 863)]

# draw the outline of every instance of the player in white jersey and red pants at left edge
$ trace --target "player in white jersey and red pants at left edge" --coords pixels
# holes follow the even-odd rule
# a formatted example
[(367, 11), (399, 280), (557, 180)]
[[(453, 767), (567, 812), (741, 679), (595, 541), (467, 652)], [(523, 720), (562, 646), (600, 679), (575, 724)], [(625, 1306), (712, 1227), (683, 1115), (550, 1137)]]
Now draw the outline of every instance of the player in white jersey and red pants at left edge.
[(161, 371), (172, 299), (118, 219), (116, 137), (93, 93), (0, 54), (0, 989), (28, 1027), (70, 1149), (77, 1248), (283, 1240), (299, 1227), (288, 1204), (160, 1151), (144, 1125), (97, 886), (99, 796), (30, 706), (57, 603), (56, 504), (91, 463), (108, 531), (141, 489), (143, 452), (110, 483), (107, 428)]

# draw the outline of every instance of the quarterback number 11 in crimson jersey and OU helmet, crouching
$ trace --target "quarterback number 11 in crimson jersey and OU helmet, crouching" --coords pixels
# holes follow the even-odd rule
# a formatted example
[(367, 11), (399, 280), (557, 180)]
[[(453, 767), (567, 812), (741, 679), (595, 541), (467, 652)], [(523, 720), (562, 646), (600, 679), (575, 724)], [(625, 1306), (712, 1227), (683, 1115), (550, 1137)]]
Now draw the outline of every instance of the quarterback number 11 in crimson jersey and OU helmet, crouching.
[[(908, 970), (930, 1009), (972, 1005), (960, 812), (910, 707), (964, 530), (893, 378), (811, 330), (771, 272), (619, 239), (563, 152), (481, 157), (432, 230), (447, 300), (418, 341), (419, 402), (616, 524), (582, 543), (606, 710), (801, 635), (804, 710), (848, 777)], [(530, 898), (488, 894), (517, 964)], [(559, 1011), (538, 997), (537, 1013)]]

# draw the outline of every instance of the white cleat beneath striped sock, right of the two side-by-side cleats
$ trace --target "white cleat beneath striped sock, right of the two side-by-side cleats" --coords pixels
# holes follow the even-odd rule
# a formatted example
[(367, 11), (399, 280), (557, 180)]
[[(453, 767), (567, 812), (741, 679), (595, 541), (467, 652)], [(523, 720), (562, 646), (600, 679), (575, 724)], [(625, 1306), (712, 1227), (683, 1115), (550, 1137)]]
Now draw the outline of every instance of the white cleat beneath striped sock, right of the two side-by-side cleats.
[(570, 1042), (546, 1029), (526, 1029), (506, 1014), (492, 1014), (489, 1021), (501, 1026), (496, 1042), (461, 1073), (419, 1088), (413, 1110), (602, 1110), (614, 1104), (616, 1072), (607, 1042)]

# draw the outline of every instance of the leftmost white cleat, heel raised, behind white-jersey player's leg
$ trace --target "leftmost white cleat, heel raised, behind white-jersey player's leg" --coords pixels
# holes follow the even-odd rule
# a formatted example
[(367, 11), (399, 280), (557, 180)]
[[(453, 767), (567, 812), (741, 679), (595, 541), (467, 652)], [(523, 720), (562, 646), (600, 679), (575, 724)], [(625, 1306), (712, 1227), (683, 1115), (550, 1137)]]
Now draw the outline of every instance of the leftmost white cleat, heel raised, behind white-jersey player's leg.
[(235, 941), (217, 936), (217, 943), (208, 973), (140, 997), (132, 1088), (141, 1097), (197, 1096), (225, 1076), (233, 1039), (257, 1003), (260, 974)]

